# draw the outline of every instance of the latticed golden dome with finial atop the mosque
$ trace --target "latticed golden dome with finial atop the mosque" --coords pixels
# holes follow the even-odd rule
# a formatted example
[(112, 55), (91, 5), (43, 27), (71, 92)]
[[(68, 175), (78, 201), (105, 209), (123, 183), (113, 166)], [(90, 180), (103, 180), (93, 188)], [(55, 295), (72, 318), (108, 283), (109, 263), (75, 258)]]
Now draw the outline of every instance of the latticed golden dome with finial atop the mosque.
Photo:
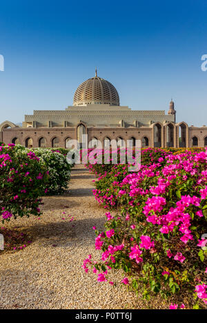
[(114, 85), (97, 76), (81, 83), (75, 92), (73, 105), (110, 104), (119, 105), (119, 94)]

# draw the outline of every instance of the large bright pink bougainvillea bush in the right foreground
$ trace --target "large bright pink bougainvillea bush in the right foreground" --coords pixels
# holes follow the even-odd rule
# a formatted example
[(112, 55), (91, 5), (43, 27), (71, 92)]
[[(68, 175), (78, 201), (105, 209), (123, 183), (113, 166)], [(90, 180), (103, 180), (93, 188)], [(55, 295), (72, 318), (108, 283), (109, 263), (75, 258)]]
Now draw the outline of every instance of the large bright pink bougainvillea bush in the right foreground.
[[(92, 267), (99, 282), (141, 291), (146, 300), (169, 298), (170, 309), (206, 308), (206, 158), (207, 150), (163, 154), (137, 173), (113, 167), (110, 184), (100, 176), (96, 198), (119, 212), (107, 212), (105, 231), (95, 231), (100, 262), (89, 255), (83, 269)], [(111, 269), (123, 270), (121, 282), (110, 280)]]

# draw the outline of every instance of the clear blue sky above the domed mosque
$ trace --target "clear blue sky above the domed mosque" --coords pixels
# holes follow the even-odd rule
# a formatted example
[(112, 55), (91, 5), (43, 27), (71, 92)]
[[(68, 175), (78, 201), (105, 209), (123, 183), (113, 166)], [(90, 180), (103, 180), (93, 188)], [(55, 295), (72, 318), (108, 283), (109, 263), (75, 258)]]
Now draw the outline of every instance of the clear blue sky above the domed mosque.
[(80, 83), (110, 81), (121, 105), (207, 125), (207, 1), (1, 1), (0, 123), (64, 110)]

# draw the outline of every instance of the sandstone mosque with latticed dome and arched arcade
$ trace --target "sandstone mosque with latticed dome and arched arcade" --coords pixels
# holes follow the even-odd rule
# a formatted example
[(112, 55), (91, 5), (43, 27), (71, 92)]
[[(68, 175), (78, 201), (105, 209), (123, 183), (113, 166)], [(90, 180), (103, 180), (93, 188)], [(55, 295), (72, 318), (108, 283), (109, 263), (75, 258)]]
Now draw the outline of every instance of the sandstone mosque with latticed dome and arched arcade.
[(10, 121), (0, 125), (0, 141), (25, 147), (68, 147), (71, 139), (82, 145), (82, 134), (108, 145), (141, 140), (142, 147), (206, 147), (207, 127), (176, 123), (175, 104), (164, 110), (131, 110), (121, 106), (119, 94), (110, 82), (97, 76), (77, 87), (73, 105), (65, 110), (34, 110), (22, 126)]

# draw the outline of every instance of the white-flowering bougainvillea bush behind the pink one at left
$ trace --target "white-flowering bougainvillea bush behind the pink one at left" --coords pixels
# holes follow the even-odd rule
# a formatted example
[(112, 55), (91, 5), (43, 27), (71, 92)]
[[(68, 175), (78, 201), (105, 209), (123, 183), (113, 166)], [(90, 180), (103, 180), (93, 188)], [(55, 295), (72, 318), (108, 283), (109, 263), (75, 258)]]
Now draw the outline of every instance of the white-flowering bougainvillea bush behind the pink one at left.
[[(26, 149), (26, 152), (28, 150)], [(70, 180), (71, 165), (68, 164), (66, 156), (61, 152), (51, 151), (50, 149), (30, 149), (34, 152), (46, 167), (49, 180), (46, 186), (47, 194), (61, 194), (63, 189), (68, 187), (68, 181)]]

